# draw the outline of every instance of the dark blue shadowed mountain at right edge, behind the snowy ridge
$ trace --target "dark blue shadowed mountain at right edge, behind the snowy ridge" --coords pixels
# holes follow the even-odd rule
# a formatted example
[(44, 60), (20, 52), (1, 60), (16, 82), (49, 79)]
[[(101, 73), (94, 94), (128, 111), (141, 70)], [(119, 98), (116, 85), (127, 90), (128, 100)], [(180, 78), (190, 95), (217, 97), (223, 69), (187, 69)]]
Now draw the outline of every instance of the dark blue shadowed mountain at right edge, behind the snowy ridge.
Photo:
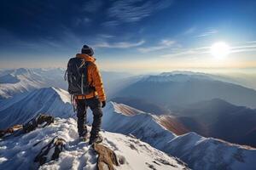
[(175, 113), (190, 132), (256, 147), (253, 135), (256, 129), (255, 110), (212, 99), (185, 106)]

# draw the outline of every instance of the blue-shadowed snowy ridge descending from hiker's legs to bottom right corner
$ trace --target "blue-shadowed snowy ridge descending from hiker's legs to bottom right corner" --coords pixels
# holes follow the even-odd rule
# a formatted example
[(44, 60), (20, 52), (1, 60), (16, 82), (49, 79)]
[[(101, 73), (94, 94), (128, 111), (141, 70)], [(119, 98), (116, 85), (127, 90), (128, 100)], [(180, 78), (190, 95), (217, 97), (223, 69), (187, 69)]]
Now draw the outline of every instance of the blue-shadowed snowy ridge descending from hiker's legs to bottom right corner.
[(126, 106), (116, 103), (107, 105), (103, 116), (104, 129), (114, 133), (131, 133), (155, 148), (179, 157), (194, 169), (253, 170), (256, 167), (256, 162), (253, 161), (256, 149), (204, 138), (197, 133), (177, 136), (158, 123), (158, 116), (148, 113), (127, 116), (121, 112), (125, 111), (122, 107)]

